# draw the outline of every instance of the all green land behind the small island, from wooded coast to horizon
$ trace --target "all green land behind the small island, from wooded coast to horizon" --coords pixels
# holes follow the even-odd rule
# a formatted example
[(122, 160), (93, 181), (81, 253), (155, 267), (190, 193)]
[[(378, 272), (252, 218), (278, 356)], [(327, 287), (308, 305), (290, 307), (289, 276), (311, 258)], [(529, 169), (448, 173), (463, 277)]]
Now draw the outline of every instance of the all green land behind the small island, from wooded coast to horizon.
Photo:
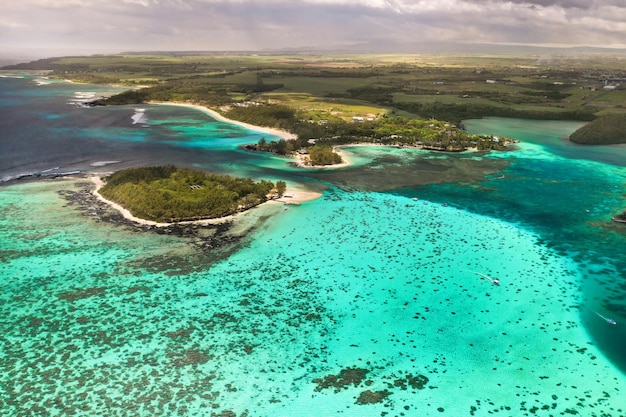
[[(533, 56), (199, 52), (60, 57), (6, 68), (129, 87), (92, 105), (193, 103), (296, 134), (297, 141), (262, 149), (279, 154), (308, 147), (310, 139), (331, 146), (369, 141), (422, 142), (437, 150), (502, 149), (498, 142), (464, 138), (438, 125), (461, 126), (462, 120), (486, 116), (600, 118), (572, 140), (626, 141), (619, 118), (606, 117), (626, 114), (626, 70), (622, 59), (610, 54), (562, 56), (558, 68)], [(414, 120), (428, 123), (416, 132), (409, 126)], [(430, 124), (435, 127), (428, 131)]]

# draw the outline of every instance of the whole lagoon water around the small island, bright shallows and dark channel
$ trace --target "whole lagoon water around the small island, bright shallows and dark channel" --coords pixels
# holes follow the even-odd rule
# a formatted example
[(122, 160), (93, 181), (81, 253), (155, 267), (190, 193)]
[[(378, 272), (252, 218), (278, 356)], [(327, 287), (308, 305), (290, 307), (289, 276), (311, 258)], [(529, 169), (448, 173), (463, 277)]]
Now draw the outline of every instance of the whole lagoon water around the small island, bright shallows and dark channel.
[[(137, 126), (132, 108), (68, 105), (76, 86), (0, 83), (5, 108), (60, 115), (28, 129), (89, 134), (72, 136), (82, 159), (54, 155), (60, 170), (169, 155), (323, 190), (245, 214), (218, 256), (74, 204), (85, 178), (7, 181), (1, 415), (626, 415), (626, 228), (611, 222), (626, 148), (564, 140), (580, 123), (471, 120), (518, 149), (352, 147), (354, 166), (318, 172), (240, 150), (260, 134), (194, 109), (146, 106)], [(25, 155), (4, 177), (50, 163), (20, 134), (3, 139)]]

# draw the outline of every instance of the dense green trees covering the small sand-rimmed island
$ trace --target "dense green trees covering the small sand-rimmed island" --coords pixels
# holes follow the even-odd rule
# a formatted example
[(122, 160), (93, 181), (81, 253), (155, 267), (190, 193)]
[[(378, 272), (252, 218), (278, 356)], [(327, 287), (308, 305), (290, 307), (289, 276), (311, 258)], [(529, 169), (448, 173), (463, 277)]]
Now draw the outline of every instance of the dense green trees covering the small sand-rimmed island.
[(106, 178), (100, 194), (133, 216), (156, 222), (225, 217), (255, 207), (286, 189), (283, 181), (253, 181), (173, 165), (131, 168)]

